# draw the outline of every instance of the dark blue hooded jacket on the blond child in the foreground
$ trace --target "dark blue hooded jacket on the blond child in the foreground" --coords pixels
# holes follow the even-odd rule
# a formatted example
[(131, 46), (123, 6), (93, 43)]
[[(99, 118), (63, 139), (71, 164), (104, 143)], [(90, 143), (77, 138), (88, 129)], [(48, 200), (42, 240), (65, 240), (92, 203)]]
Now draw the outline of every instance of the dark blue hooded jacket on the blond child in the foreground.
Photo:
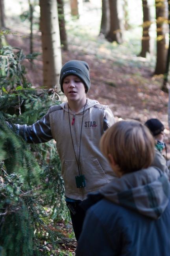
[(103, 187), (104, 198), (87, 211), (76, 256), (169, 256), (169, 191), (153, 167)]

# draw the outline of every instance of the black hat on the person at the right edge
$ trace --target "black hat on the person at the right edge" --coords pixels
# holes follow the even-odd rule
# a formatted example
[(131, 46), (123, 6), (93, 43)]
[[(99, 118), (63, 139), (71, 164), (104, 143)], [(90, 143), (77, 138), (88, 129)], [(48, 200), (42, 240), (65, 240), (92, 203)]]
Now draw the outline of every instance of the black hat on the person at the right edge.
[(145, 122), (145, 125), (152, 132), (153, 136), (160, 134), (164, 130), (164, 125), (156, 118), (148, 119), (148, 121)]

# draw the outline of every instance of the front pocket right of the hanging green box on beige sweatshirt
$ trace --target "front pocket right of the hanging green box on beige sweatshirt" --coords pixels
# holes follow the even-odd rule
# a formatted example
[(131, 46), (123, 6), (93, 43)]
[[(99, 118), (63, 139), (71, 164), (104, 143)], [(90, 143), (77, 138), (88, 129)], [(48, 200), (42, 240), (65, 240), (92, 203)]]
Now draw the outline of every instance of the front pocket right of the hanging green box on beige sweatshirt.
[(85, 191), (95, 191), (107, 183), (107, 177), (97, 158), (85, 159), (81, 162), (81, 171), (85, 176)]

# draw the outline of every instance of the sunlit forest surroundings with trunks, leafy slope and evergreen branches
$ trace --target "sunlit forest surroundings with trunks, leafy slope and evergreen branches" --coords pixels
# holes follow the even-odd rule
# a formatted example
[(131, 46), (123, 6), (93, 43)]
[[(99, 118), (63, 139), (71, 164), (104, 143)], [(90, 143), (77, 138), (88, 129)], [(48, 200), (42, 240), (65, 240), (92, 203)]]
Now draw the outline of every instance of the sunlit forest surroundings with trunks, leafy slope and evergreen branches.
[[(62, 65), (90, 66), (88, 98), (116, 118), (168, 127), (168, 0), (0, 0), (0, 255), (74, 255), (54, 141), (28, 145), (6, 125), (33, 124), (66, 98)], [(64, 140), (64, 137), (63, 137)]]

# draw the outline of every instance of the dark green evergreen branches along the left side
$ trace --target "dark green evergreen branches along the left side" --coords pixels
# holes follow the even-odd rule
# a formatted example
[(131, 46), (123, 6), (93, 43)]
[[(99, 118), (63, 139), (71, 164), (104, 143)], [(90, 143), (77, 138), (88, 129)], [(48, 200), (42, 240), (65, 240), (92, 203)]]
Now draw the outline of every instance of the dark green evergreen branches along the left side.
[[(0, 49), (0, 255), (47, 255), (43, 239), (61, 234), (48, 227), (50, 217), (64, 210), (61, 164), (54, 141), (28, 145), (15, 123), (32, 124), (59, 104), (55, 90), (31, 89), (22, 50)], [(44, 207), (52, 208), (47, 216)], [(45, 234), (44, 234), (45, 233)], [(48, 236), (46, 235), (48, 234)], [(55, 244), (54, 244), (55, 246)]]

